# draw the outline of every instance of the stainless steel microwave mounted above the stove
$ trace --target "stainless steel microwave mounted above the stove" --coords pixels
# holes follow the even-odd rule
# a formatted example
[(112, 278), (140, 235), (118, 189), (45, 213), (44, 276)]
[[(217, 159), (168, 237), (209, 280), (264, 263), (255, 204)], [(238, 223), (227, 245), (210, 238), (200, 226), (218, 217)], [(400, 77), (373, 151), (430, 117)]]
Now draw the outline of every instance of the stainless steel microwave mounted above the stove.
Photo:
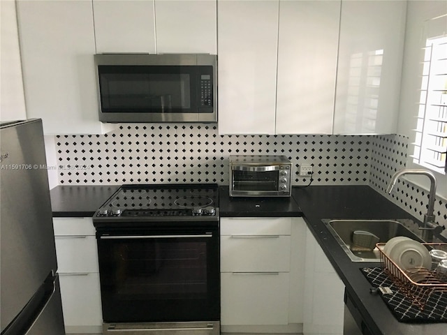
[(217, 56), (95, 54), (102, 122), (217, 122)]

